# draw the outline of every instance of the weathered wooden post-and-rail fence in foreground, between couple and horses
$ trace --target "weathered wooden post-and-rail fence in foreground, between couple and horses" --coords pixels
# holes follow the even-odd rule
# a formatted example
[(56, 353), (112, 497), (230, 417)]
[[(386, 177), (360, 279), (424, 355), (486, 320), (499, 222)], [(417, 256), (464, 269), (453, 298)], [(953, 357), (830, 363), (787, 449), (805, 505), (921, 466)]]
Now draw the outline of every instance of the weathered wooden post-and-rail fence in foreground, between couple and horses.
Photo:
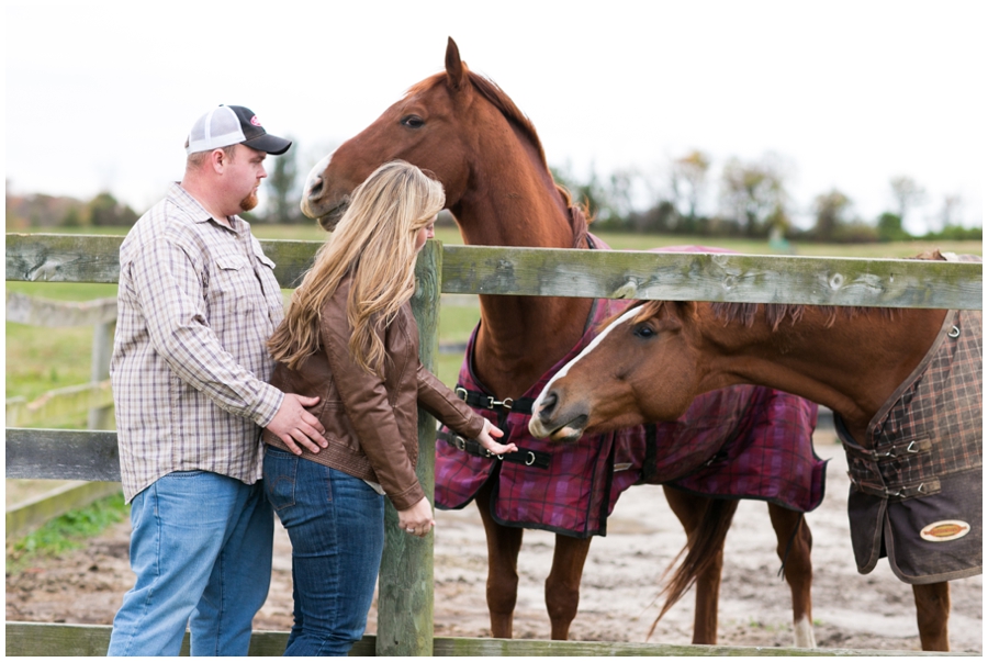
[[(116, 282), (122, 237), (7, 236), (7, 280)], [(294, 287), (317, 242), (261, 242), (284, 288)], [(652, 254), (447, 246), (429, 242), (416, 276), (413, 311), (423, 362), (437, 350), (439, 294), (525, 294), (806, 303), (930, 308), (981, 308), (981, 265), (917, 260)], [(419, 480), (434, 485), (435, 422), (420, 416)], [(119, 480), (115, 433), (7, 430), (8, 478)], [(531, 640), (434, 639), (431, 540), (402, 536), (386, 510), (378, 632), (353, 654), (584, 655), (584, 654), (861, 654), (837, 649), (670, 647)], [(101, 654), (109, 628), (7, 624), (9, 654)], [(284, 633), (259, 632), (258, 654), (278, 654)], [(93, 643), (96, 642), (96, 643)], [(89, 648), (87, 648), (89, 647)], [(910, 654), (868, 651), (868, 654)]]

